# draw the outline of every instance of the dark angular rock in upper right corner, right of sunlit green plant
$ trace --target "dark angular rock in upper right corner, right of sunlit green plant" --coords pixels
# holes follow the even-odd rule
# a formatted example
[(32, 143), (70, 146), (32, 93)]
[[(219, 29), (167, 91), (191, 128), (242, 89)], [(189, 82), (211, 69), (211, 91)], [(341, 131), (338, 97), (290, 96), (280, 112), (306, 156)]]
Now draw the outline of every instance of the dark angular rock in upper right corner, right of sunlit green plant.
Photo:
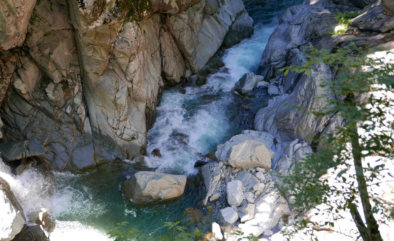
[(384, 14), (381, 0), (366, 6), (362, 11), (350, 21), (351, 26), (374, 32), (388, 32), (394, 29), (394, 17)]

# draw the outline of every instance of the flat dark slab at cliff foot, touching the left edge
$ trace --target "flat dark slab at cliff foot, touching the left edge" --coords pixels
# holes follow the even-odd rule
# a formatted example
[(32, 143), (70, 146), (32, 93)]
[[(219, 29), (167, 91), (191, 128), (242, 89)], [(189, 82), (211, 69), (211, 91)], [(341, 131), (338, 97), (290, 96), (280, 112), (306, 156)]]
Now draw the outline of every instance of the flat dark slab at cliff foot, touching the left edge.
[(14, 161), (26, 157), (42, 155), (45, 153), (45, 150), (35, 139), (30, 139), (1, 143), (0, 152), (5, 161)]

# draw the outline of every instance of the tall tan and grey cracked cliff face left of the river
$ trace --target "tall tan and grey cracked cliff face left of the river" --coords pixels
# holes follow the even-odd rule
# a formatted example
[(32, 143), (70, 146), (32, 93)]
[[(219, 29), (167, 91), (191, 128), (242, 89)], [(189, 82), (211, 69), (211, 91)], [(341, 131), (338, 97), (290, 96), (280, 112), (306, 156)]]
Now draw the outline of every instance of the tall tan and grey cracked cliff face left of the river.
[(253, 25), (242, 0), (153, 0), (138, 22), (120, 2), (0, 1), (4, 141), (35, 138), (57, 170), (132, 158), (161, 90)]

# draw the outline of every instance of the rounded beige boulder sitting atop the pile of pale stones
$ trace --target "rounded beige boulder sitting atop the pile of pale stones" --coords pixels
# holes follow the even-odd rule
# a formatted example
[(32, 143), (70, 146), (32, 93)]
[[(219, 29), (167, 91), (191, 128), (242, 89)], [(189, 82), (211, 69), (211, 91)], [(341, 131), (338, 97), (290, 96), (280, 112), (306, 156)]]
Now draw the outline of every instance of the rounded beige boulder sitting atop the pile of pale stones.
[(232, 167), (244, 170), (261, 167), (265, 170), (271, 168), (271, 155), (263, 143), (247, 140), (231, 147), (227, 156)]

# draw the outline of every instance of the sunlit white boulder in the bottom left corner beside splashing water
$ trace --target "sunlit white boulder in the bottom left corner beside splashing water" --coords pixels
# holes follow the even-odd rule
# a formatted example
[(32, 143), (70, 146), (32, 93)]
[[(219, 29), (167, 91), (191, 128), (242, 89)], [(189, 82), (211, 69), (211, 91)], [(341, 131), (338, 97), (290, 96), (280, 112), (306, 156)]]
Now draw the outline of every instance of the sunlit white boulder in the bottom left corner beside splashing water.
[(22, 206), (9, 184), (0, 178), (0, 240), (12, 240), (22, 230), (25, 221)]

